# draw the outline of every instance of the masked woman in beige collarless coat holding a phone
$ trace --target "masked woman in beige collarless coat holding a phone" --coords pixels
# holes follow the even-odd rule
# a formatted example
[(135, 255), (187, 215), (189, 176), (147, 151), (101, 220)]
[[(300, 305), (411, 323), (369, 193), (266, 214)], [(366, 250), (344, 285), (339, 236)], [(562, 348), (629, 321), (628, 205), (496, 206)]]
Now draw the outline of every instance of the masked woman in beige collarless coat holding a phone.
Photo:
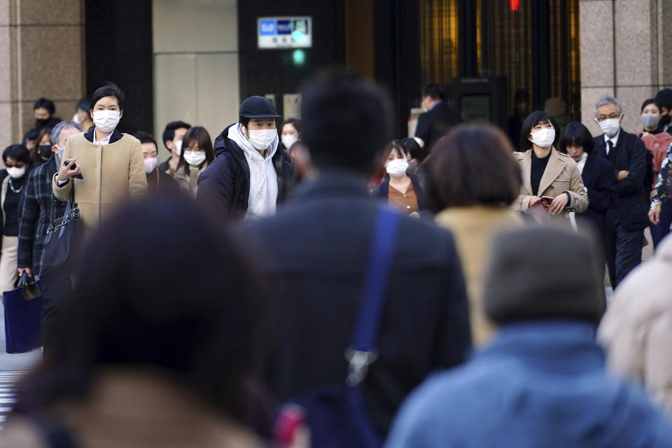
[(120, 203), (147, 191), (140, 141), (116, 130), (123, 116), (123, 92), (117, 85), (104, 85), (94, 92), (91, 104), (95, 127), (68, 139), (53, 181), (54, 195), (63, 201), (74, 183), (74, 200), (87, 231), (97, 228)]

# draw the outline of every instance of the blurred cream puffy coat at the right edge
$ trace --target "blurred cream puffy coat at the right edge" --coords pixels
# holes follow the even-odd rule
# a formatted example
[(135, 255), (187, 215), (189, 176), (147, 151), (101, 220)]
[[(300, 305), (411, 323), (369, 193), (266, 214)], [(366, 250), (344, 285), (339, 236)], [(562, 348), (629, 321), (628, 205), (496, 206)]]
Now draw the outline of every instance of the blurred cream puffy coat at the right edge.
[(608, 368), (643, 384), (672, 419), (672, 237), (636, 267), (607, 308), (598, 339)]

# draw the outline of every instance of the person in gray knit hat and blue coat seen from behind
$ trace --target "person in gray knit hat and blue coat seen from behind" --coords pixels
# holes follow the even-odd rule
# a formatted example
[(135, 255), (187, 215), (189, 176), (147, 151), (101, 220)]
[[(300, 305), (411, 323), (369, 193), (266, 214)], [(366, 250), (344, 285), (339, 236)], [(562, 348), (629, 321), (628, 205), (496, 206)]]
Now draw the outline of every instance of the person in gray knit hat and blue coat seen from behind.
[(386, 447), (670, 447), (644, 391), (605, 371), (605, 309), (594, 250), (579, 235), (498, 235), (484, 285), (496, 337), (416, 389)]

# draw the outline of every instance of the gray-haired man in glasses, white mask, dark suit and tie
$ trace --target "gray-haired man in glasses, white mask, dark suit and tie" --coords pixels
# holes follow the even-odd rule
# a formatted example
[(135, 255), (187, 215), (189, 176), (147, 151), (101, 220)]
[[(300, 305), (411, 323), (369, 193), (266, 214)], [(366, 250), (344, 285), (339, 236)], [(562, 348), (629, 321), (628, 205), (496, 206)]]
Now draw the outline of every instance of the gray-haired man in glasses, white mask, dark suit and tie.
[(596, 155), (612, 163), (616, 176), (617, 197), (605, 217), (607, 266), (611, 285), (616, 288), (642, 260), (649, 208), (644, 185), (647, 149), (635, 134), (621, 129), (623, 109), (617, 99), (601, 97), (593, 112), (603, 132), (595, 137)]

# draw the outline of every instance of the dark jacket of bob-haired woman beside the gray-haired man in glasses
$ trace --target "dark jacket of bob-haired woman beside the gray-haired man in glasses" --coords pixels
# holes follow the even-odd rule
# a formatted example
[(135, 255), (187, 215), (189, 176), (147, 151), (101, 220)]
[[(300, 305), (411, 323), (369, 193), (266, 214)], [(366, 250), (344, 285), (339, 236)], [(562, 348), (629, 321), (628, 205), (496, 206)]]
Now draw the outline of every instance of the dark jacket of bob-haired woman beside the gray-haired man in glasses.
[(578, 216), (589, 219), (596, 230), (604, 233), (604, 218), (616, 200), (616, 176), (614, 166), (597, 155), (589, 155), (581, 173), (588, 189), (588, 209)]

